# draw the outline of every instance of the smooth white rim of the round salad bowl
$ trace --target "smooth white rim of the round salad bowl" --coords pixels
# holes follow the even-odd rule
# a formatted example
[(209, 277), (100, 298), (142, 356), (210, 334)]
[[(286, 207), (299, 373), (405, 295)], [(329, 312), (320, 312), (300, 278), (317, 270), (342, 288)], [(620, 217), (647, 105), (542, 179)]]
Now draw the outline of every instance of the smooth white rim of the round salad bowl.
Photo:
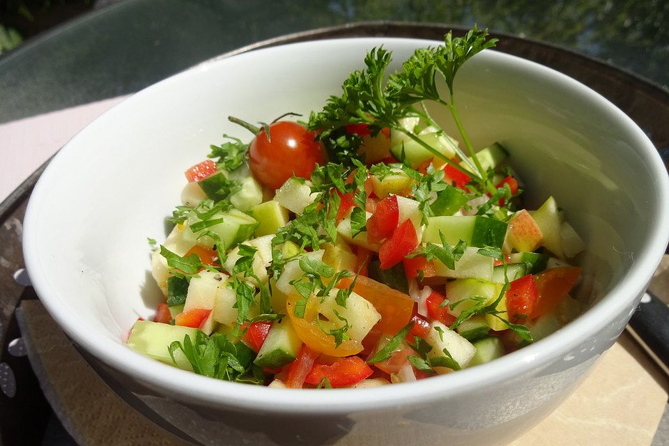
[[(312, 42), (290, 43), (288, 45), (278, 45), (263, 49), (254, 49), (252, 52), (235, 54), (231, 58), (216, 59), (211, 64), (225, 64), (231, 59), (243, 57), (262, 57), (266, 52), (276, 52), (286, 49), (286, 47), (312, 47), (322, 45), (364, 45), (371, 48), (374, 45), (391, 42), (397, 45), (438, 45), (438, 40), (425, 40), (416, 38), (334, 38), (323, 39)], [(663, 227), (663, 221), (669, 221), (669, 177), (664, 169), (663, 163), (656, 152), (652, 142), (644, 134), (643, 130), (638, 128), (631, 118), (626, 116), (611, 102), (603, 98), (599, 93), (589, 87), (580, 84), (575, 79), (563, 75), (551, 68), (541, 66), (538, 63), (521, 59), (517, 56), (503, 54), (494, 50), (485, 50), (476, 57), (486, 57), (495, 62), (514, 63), (523, 71), (528, 71), (532, 75), (550, 78), (551, 82), (558, 82), (569, 89), (577, 89), (587, 100), (597, 103), (598, 107), (607, 109), (612, 117), (623, 123), (629, 132), (639, 141), (643, 141), (638, 149), (638, 154), (643, 157), (647, 163), (651, 174), (655, 176), (656, 185), (659, 190), (659, 203), (657, 212), (652, 216), (652, 222), (649, 226), (652, 228), (651, 235), (646, 240), (645, 245), (639, 250), (640, 255), (631, 268), (621, 275), (615, 286), (605, 293), (603, 298), (581, 314), (575, 321), (571, 321), (563, 330), (558, 330), (551, 334), (548, 339), (538, 341), (535, 344), (526, 346), (521, 350), (509, 353), (504, 357), (498, 358), (493, 363), (482, 364), (472, 369), (464, 369), (456, 374), (444, 376), (435, 376), (429, 380), (418, 380), (415, 383), (405, 383), (392, 386), (383, 386), (383, 389), (335, 389), (328, 392), (318, 392), (314, 390), (292, 390), (275, 389), (263, 386), (247, 386), (238, 383), (229, 383), (226, 381), (214, 381), (211, 378), (192, 374), (191, 372), (176, 369), (167, 364), (151, 360), (148, 357), (132, 351), (130, 348), (118, 341), (112, 341), (107, 337), (92, 337), (90, 332), (83, 330), (82, 325), (72, 323), (73, 318), (66, 314), (58, 305), (59, 293), (52, 289), (46, 277), (45, 269), (42, 268), (39, 254), (39, 234), (36, 233), (38, 226), (37, 220), (40, 209), (40, 202), (45, 200), (48, 183), (58, 176), (60, 153), (54, 157), (47, 169), (38, 181), (29, 201), (26, 215), (24, 218), (24, 256), (26, 268), (31, 272), (31, 281), (36, 289), (40, 299), (45, 307), (54, 317), (63, 330), (75, 340), (77, 344), (86, 348), (95, 357), (109, 366), (122, 371), (124, 374), (132, 376), (148, 387), (158, 388), (163, 392), (171, 390), (175, 397), (185, 401), (194, 401), (213, 406), (228, 406), (238, 409), (259, 410), (267, 413), (309, 413), (311, 415), (324, 415), (332, 413), (351, 413), (360, 410), (370, 410), (387, 408), (392, 406), (404, 406), (413, 403), (429, 403), (445, 396), (455, 396), (465, 392), (470, 392), (472, 387), (484, 388), (502, 381), (517, 378), (532, 370), (552, 362), (566, 355), (571, 349), (602, 328), (614, 321), (617, 315), (624, 312), (625, 309), (638, 303), (640, 295), (643, 293), (646, 284), (652, 277), (656, 266), (659, 264), (661, 256), (664, 254), (665, 247), (669, 242), (669, 228)], [(169, 88), (172, 84), (183, 82), (195, 70), (201, 70), (203, 67), (210, 66), (209, 63), (199, 64), (189, 70), (180, 72), (174, 76), (157, 82), (152, 86), (132, 95), (120, 104), (112, 107), (100, 118), (105, 119), (110, 112), (117, 107), (127, 107), (134, 101), (141, 100), (144, 95), (152, 94), (154, 90)], [(89, 125), (90, 126), (90, 125)], [(86, 132), (89, 126), (82, 132)], [(61, 149), (61, 153), (67, 153), (69, 147), (76, 146), (77, 136), (72, 138), (66, 146)], [(641, 286), (639, 284), (642, 284)], [(644, 289), (642, 289), (644, 287)], [(626, 315), (627, 318), (631, 316)], [(622, 330), (622, 327), (621, 327)], [(615, 339), (610, 340), (612, 345)], [(175, 386), (174, 383), (180, 383)]]

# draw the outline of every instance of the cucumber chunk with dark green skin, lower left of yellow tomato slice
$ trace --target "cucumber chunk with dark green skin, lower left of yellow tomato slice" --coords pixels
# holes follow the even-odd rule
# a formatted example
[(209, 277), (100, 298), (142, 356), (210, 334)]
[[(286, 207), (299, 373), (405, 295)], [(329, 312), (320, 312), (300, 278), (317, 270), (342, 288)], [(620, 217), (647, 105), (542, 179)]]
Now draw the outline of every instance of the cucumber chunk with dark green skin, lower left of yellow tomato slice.
[(280, 369), (298, 357), (302, 339), (293, 328), (290, 318), (274, 321), (254, 364), (267, 369)]

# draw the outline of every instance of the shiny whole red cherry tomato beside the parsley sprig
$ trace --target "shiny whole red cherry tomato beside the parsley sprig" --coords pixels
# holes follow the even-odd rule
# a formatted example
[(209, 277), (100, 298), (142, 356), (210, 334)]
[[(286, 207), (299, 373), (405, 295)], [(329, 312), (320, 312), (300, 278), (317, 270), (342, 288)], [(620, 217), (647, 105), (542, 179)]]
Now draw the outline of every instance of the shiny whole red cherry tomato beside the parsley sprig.
[(249, 167), (265, 186), (278, 189), (292, 176), (309, 178), (323, 164), (323, 149), (304, 125), (278, 121), (270, 125), (270, 139), (261, 129), (249, 146)]

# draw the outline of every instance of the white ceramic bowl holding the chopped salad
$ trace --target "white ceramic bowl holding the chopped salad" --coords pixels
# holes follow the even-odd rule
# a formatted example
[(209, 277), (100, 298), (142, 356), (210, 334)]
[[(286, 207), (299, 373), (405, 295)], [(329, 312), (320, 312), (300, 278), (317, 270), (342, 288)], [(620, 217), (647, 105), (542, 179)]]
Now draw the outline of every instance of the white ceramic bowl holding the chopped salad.
[(463, 123), (475, 146), (509, 148), (530, 206), (553, 194), (586, 240), (581, 297), (592, 305), (585, 314), (489, 364), (369, 390), (227, 383), (126, 348), (138, 314), (151, 315), (159, 299), (146, 238), (164, 237), (183, 170), (223, 133), (249, 136), (226, 116), (271, 121), (319, 109), (381, 44), (403, 61), (415, 47), (437, 43), (325, 40), (203, 64), (91, 123), (32, 194), (24, 252), (49, 312), (145, 403), (203, 443), (507, 443), (550, 413), (615, 342), (661, 259), (669, 185), (643, 131), (573, 79), (486, 51), (456, 77)]

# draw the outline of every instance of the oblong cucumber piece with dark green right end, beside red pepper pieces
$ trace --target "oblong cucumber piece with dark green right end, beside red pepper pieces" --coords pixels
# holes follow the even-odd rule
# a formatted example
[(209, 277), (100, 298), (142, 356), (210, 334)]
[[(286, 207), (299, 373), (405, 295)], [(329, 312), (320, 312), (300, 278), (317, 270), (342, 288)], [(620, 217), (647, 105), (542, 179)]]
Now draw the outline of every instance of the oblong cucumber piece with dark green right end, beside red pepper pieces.
[(468, 246), (502, 247), (507, 233), (507, 224), (481, 215), (456, 215), (428, 217), (423, 231), (423, 243), (441, 244), (439, 233), (443, 233), (450, 245), (464, 240)]

